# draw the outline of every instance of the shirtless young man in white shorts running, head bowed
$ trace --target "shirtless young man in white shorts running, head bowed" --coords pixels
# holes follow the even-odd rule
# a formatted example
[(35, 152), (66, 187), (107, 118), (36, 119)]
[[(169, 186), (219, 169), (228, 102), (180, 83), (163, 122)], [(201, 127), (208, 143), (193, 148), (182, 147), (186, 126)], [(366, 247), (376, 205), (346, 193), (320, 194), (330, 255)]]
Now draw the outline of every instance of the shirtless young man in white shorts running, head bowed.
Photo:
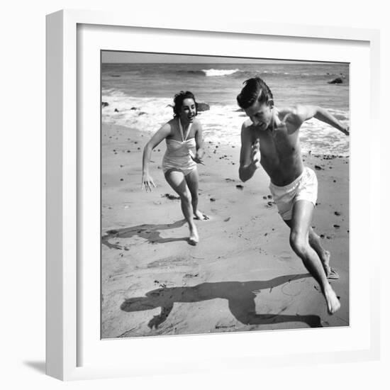
[(338, 276), (330, 268), (330, 253), (323, 249), (321, 239), (311, 228), (318, 182), (313, 170), (303, 165), (299, 128), (304, 121), (316, 118), (345, 135), (349, 130), (318, 106), (278, 109), (271, 90), (260, 77), (244, 84), (237, 96), (238, 105), (249, 117), (241, 128), (240, 179), (246, 182), (260, 166), (267, 172), (275, 204), (291, 230), (291, 248), (320, 284), (328, 312), (333, 314), (340, 308), (340, 301), (328, 277)]

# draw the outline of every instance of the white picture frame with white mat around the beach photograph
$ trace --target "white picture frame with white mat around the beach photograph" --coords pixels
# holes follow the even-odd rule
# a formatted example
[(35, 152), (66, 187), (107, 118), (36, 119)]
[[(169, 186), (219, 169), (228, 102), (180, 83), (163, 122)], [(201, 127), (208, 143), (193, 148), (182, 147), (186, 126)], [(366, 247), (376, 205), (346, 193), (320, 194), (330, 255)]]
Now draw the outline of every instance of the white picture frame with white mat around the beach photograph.
[[(111, 47), (110, 41), (104, 41), (105, 28), (113, 30), (113, 37), (116, 37), (117, 43)], [(126, 34), (131, 28), (137, 29), (137, 33), (147, 30), (149, 40), (133, 43), (126, 43), (121, 40), (121, 35)], [(99, 352), (94, 348), (99, 347), (101, 341), (96, 339), (95, 330), (91, 330), (91, 342), (85, 337), (85, 323), (87, 319), (96, 320), (96, 311), (87, 316), (84, 311), (87, 310), (82, 304), (81, 294), (97, 294), (99, 299), (99, 280), (94, 279), (94, 274), (89, 274), (83, 269), (82, 261), (82, 243), (80, 240), (80, 231), (83, 229), (82, 223), (86, 218), (81, 218), (80, 191), (82, 186), (88, 186), (80, 180), (80, 170), (94, 169), (85, 164), (84, 154), (84, 135), (81, 137), (78, 129), (82, 126), (82, 121), (87, 120), (89, 107), (83, 106), (82, 112), (78, 108), (78, 99), (81, 94), (80, 89), (89, 88), (91, 84), (81, 85), (84, 80), (78, 79), (80, 62), (85, 60), (85, 55), (89, 58), (97, 54), (96, 50), (145, 50), (152, 51), (157, 43), (155, 39), (160, 32), (176, 34), (178, 39), (188, 39), (190, 35), (196, 35), (201, 39), (219, 39), (221, 45), (212, 45), (209, 48), (203, 46), (203, 55), (231, 55), (223, 45), (223, 40), (229, 37), (232, 46), (237, 46), (238, 55), (245, 55), (245, 50), (250, 50), (252, 40), (272, 39), (274, 50), (278, 45), (283, 45), (283, 40), (290, 40), (291, 45), (296, 49), (289, 49), (282, 54), (268, 52), (264, 57), (281, 58), (284, 55), (287, 59), (308, 60), (305, 52), (305, 45), (310, 47), (325, 46), (333, 47), (335, 56), (340, 60), (349, 62), (350, 55), (346, 48), (350, 48), (350, 53), (355, 52), (355, 62), (367, 62), (370, 76), (367, 77), (369, 85), (362, 86), (363, 91), (367, 91), (365, 96), (369, 96), (369, 106), (367, 111), (363, 111), (359, 106), (359, 99), (352, 99), (351, 104), (351, 257), (364, 256), (364, 250), (357, 252), (353, 250), (353, 242), (359, 242), (362, 234), (368, 234), (369, 248), (366, 254), (369, 255), (369, 264), (365, 264), (365, 272), (369, 272), (369, 294), (363, 296), (367, 299), (369, 311), (364, 311), (363, 325), (351, 318), (351, 325), (347, 330), (329, 330), (328, 337), (348, 340), (350, 345), (344, 345), (337, 349), (332, 345), (323, 350), (313, 352), (310, 348), (303, 347), (300, 350), (299, 343), (291, 343), (290, 350), (272, 351), (272, 342), (274, 334), (266, 333), (270, 345), (268, 352), (259, 350), (248, 351), (248, 345), (256, 342), (262, 342), (264, 345), (264, 333), (246, 333), (240, 335), (230, 334), (229, 348), (234, 350), (234, 356), (224, 350), (226, 342), (221, 335), (196, 335), (180, 336), (174, 338), (140, 338), (138, 340), (118, 340), (116, 345), (111, 348), (108, 342), (104, 342), (104, 347)], [(103, 34), (102, 34), (103, 33)], [(79, 34), (79, 35), (78, 35)], [(98, 36), (96, 38), (94, 35)], [(81, 38), (80, 38), (81, 37)], [(169, 38), (169, 37), (168, 37)], [(81, 40), (80, 40), (81, 39)], [(101, 39), (101, 40), (99, 40)], [(112, 39), (112, 37), (110, 38)], [(280, 40), (280, 42), (279, 42)], [(242, 45), (238, 45), (238, 41)], [(112, 40), (111, 40), (112, 42)], [(99, 45), (103, 45), (99, 49)], [(302, 47), (300, 47), (300, 45)], [(280, 47), (280, 46), (279, 46)], [(360, 48), (362, 52), (360, 53)], [(186, 48), (188, 52), (183, 54), (198, 54), (194, 46)], [(209, 51), (208, 51), (209, 50)], [(225, 50), (225, 51), (224, 51)], [(240, 51), (241, 50), (241, 51)], [(291, 51), (292, 50), (292, 51)], [(318, 54), (316, 60), (330, 60), (325, 48), (323, 57)], [(87, 54), (86, 54), (87, 53)], [(200, 52), (199, 52), (200, 53)], [(247, 51), (249, 53), (249, 51)], [(277, 53), (276, 51), (274, 53)], [(362, 54), (360, 57), (360, 54)], [(291, 57), (294, 56), (294, 57)], [(354, 62), (351, 62), (354, 65)], [(97, 64), (100, 66), (100, 64)], [(93, 73), (93, 72), (91, 72)], [(356, 80), (356, 79), (355, 79)], [(354, 79), (351, 82), (351, 94), (359, 94), (357, 82)], [(130, 377), (144, 374), (163, 374), (163, 373), (181, 373), (181, 372), (199, 372), (208, 369), (233, 369), (247, 368), (256, 369), (258, 364), (262, 366), (284, 367), (291, 364), (313, 364), (313, 362), (353, 362), (375, 360), (379, 358), (379, 303), (374, 297), (379, 294), (379, 243), (375, 235), (374, 226), (379, 225), (379, 205), (374, 201), (374, 194), (370, 193), (367, 210), (362, 211), (357, 221), (357, 203), (360, 201), (357, 189), (359, 184), (354, 181), (354, 172), (366, 174), (369, 177), (370, 188), (378, 187), (378, 176), (373, 167), (375, 162), (379, 161), (379, 126), (378, 118), (378, 94), (379, 89), (379, 31), (364, 30), (354, 28), (325, 28), (321, 26), (299, 26), (299, 25), (281, 25), (274, 23), (250, 22), (242, 23), (240, 21), (217, 21), (216, 19), (205, 18), (202, 21), (181, 21), (158, 20), (157, 18), (139, 18), (136, 16), (122, 15), (121, 13), (101, 13), (96, 11), (58, 11), (47, 16), (47, 374), (62, 380), (74, 379), (98, 379), (106, 377)], [(84, 93), (84, 92), (82, 92)], [(91, 96), (94, 91), (91, 89)], [(99, 94), (95, 96), (96, 104), (100, 107)], [(364, 101), (367, 108), (367, 100)], [(98, 108), (99, 108), (98, 107)], [(364, 107), (364, 106), (363, 106)], [(77, 111), (79, 109), (79, 111)], [(84, 113), (85, 109), (85, 113)], [(94, 113), (91, 113), (94, 116)], [(83, 117), (83, 118), (81, 118)], [(95, 118), (100, 121), (100, 118)], [(372, 136), (369, 140), (361, 138), (360, 126), (369, 126)], [(94, 127), (94, 126), (92, 126)], [(356, 129), (356, 130), (355, 130)], [(354, 132), (355, 134), (354, 135)], [(360, 148), (366, 147), (366, 153), (369, 154), (369, 164), (354, 158), (358, 156)], [(367, 149), (367, 143), (369, 147)], [(99, 155), (99, 146), (91, 142), (91, 149)], [(368, 150), (368, 151), (367, 151)], [(96, 160), (96, 153), (92, 155), (91, 160)], [(83, 171), (84, 172), (84, 171)], [(90, 190), (94, 186), (89, 187)], [(355, 195), (356, 194), (356, 195)], [(354, 201), (356, 199), (356, 201)], [(93, 203), (93, 202), (92, 202)], [(99, 218), (99, 216), (91, 216)], [(82, 221), (82, 222), (81, 222)], [(364, 232), (358, 224), (366, 224)], [(355, 224), (355, 225), (354, 225)], [(356, 227), (354, 227), (356, 226)], [(96, 249), (99, 252), (99, 248)], [(96, 261), (99, 262), (99, 259)], [(94, 268), (96, 270), (96, 268)], [(367, 271), (369, 269), (369, 271)], [(86, 277), (86, 274), (89, 276)], [(362, 277), (362, 266), (358, 264), (352, 267), (351, 271), (351, 310), (357, 315), (359, 302), (354, 296), (354, 285)], [(87, 279), (86, 279), (87, 278)], [(354, 283), (354, 280), (356, 282)], [(368, 278), (367, 278), (368, 279)], [(87, 281), (87, 282), (86, 282)], [(88, 284), (88, 286), (87, 286)], [(89, 285), (90, 284), (90, 285)], [(87, 290), (85, 292), (84, 290)], [(355, 300), (355, 303), (354, 303)], [(355, 306), (354, 306), (355, 305)], [(82, 321), (82, 319), (84, 321)], [(356, 319), (356, 317), (355, 317)], [(95, 321), (96, 322), (96, 321)], [(99, 323), (91, 325), (99, 328)], [(84, 328), (83, 328), (84, 327)], [(337, 334), (336, 334), (337, 333)], [(294, 339), (298, 340), (302, 336), (301, 330), (294, 331)], [(291, 340), (290, 332), (277, 333), (278, 340), (289, 343)], [(319, 340), (318, 333), (311, 333), (308, 344)], [(355, 342), (354, 345), (352, 345)], [(111, 341), (112, 343), (112, 341)], [(115, 347), (119, 343), (124, 343), (125, 348), (131, 350), (126, 364), (116, 364), (114, 360), (104, 361), (103, 357), (114, 357)], [(186, 350), (194, 350), (191, 356), (174, 355), (179, 352), (181, 345), (186, 345)], [(209, 359), (201, 359), (201, 348), (207, 345), (213, 345), (209, 353)], [(161, 364), (159, 359), (144, 360), (146, 355), (143, 351), (150, 348), (160, 348), (167, 346), (172, 349), (171, 355), (165, 359), (166, 364)], [(199, 350), (196, 350), (198, 348)], [(89, 352), (80, 349), (89, 350)], [(214, 351), (217, 351), (214, 353)], [(218, 353), (219, 351), (219, 353)], [(99, 355), (101, 353), (101, 355)], [(89, 355), (96, 357), (94, 359), (84, 359), (83, 356)], [(99, 357), (100, 356), (100, 357)], [(211, 360), (213, 364), (211, 366)]]

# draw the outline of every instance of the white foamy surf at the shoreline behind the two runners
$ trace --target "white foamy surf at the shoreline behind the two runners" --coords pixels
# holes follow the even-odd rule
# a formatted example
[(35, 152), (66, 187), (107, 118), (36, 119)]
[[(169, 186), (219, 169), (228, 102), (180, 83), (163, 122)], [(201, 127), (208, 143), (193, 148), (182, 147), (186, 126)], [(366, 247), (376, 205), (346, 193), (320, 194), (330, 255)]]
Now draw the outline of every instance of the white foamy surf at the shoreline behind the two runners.
[[(138, 98), (116, 91), (104, 91), (103, 101), (108, 103), (101, 109), (102, 121), (128, 128), (137, 128), (152, 135), (164, 123), (173, 118), (172, 99)], [(341, 123), (347, 124), (349, 115), (342, 110), (329, 109)], [(247, 116), (235, 105), (212, 104), (209, 111), (197, 116), (201, 122), (204, 140), (240, 147), (240, 129)], [(300, 130), (301, 147), (318, 154), (349, 155), (349, 138), (335, 128), (311, 119), (303, 123)]]

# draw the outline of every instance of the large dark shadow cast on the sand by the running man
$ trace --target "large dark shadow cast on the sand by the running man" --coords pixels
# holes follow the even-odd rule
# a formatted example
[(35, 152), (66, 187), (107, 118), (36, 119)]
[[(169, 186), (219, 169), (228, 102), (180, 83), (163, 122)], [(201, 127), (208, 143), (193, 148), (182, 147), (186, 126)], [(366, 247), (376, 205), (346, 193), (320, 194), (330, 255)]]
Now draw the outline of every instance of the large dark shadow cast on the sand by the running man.
[(121, 304), (121, 310), (133, 312), (160, 307), (161, 313), (158, 316), (154, 316), (147, 324), (149, 328), (157, 328), (167, 319), (175, 302), (188, 303), (222, 298), (228, 300), (228, 306), (233, 316), (245, 325), (302, 322), (311, 328), (321, 328), (321, 318), (319, 316), (282, 314), (288, 306), (284, 306), (277, 313), (257, 314), (255, 311), (255, 297), (261, 290), (273, 289), (281, 284), (309, 276), (309, 274), (292, 274), (275, 277), (267, 281), (215, 282), (201, 283), (193, 287), (155, 289), (147, 292), (146, 296), (126, 299)]

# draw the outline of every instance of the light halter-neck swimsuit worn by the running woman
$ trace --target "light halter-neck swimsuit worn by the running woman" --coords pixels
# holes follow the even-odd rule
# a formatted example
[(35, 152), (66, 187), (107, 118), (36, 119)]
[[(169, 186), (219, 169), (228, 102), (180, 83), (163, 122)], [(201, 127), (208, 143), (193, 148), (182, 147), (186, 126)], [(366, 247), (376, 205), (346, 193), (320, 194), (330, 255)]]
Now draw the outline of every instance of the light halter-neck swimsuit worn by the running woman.
[(166, 138), (167, 151), (162, 158), (162, 171), (166, 173), (170, 169), (178, 170), (184, 173), (184, 176), (196, 169), (196, 162), (192, 160), (192, 156), (196, 153), (195, 138), (188, 138), (192, 123), (189, 123), (188, 130), (184, 137), (182, 123), (179, 122), (179, 130), (182, 135), (182, 140), (174, 140)]

